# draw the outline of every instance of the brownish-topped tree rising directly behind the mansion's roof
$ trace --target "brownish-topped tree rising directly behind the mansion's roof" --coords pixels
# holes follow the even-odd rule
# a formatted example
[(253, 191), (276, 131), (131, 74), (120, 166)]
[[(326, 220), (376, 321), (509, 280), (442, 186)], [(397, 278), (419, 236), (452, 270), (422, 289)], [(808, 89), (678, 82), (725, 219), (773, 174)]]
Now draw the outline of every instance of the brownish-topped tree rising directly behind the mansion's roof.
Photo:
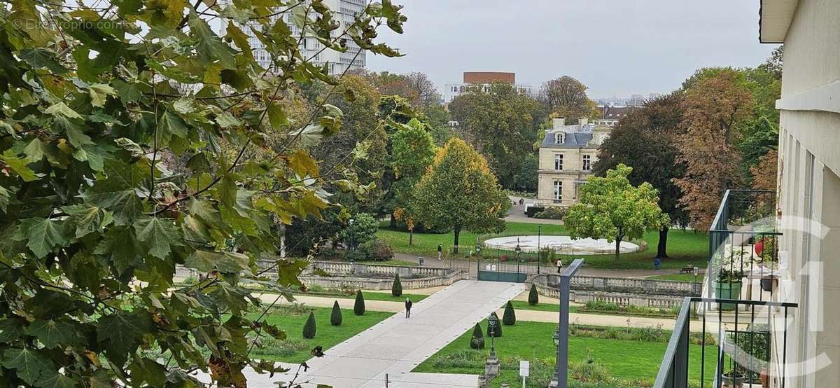
[(586, 96), (586, 86), (570, 76), (543, 82), (538, 96), (551, 112), (567, 118), (567, 123), (575, 123), (578, 118), (589, 118), (593, 114), (594, 105)]

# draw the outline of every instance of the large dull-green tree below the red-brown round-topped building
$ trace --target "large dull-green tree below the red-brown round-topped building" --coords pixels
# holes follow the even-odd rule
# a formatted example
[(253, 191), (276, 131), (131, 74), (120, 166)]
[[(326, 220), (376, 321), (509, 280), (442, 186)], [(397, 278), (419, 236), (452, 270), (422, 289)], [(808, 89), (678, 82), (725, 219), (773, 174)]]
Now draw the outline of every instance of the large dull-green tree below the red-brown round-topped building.
[(548, 108), (513, 85), (496, 82), (487, 90), (470, 88), (449, 103), (449, 111), (464, 138), (486, 156), (501, 186), (513, 188)]

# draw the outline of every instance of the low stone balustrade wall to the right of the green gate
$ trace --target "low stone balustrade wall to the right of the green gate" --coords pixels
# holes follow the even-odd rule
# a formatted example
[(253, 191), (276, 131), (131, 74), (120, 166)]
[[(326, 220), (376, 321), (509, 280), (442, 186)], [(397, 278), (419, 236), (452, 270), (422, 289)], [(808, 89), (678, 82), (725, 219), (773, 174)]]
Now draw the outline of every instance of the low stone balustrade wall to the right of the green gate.
[[(537, 292), (557, 298), (558, 275), (538, 275), (533, 283)], [(702, 284), (685, 281), (651, 281), (644, 279), (575, 276), (570, 284), (570, 301), (605, 301), (619, 306), (670, 308), (680, 306), (685, 296), (699, 296)]]

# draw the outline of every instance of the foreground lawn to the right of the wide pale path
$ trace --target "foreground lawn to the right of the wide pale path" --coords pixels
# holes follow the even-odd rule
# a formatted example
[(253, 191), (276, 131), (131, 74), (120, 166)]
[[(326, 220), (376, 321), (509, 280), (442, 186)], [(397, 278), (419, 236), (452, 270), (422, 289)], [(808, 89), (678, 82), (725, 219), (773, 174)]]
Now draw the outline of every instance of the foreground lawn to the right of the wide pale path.
[[(486, 321), (481, 326), (486, 332)], [(552, 341), (552, 335), (556, 328), (555, 323), (547, 322), (517, 322), (514, 326), (502, 327), (501, 338), (496, 338), (496, 354), (502, 361), (502, 370), (499, 378), (493, 381), (493, 386), (499, 386), (507, 382), (510, 386), (520, 386), (521, 377), (518, 368), (511, 365), (518, 365), (520, 359), (549, 360), (549, 364), (555, 361), (556, 348)], [(428, 373), (462, 373), (478, 375), (483, 365), (470, 365), (458, 362), (458, 354), (464, 352), (480, 352), (470, 349), (470, 336), (472, 329), (467, 330), (454, 342), (449, 343), (437, 354), (417, 365), (414, 372)], [(486, 348), (481, 351), (487, 354), (491, 345), (491, 338), (485, 337)], [(651, 382), (656, 378), (659, 365), (662, 363), (665, 349), (668, 343), (664, 342), (643, 342), (604, 338), (569, 338), (569, 360), (570, 365), (585, 362), (591, 359), (596, 363), (603, 364), (610, 376), (627, 381), (641, 380)], [(714, 365), (717, 347), (706, 346), (706, 378), (711, 376)], [(486, 357), (486, 355), (485, 355)], [(701, 358), (701, 346), (690, 345), (690, 379), (700, 380), (699, 361)], [(508, 365), (505, 368), (505, 365)], [(475, 366), (475, 367), (474, 367)], [(547, 370), (534, 370), (538, 363), (532, 363), (532, 375), (551, 374)], [(536, 374), (535, 374), (536, 372)], [(570, 373), (571, 375), (571, 373)], [(711, 382), (711, 380), (710, 380)], [(528, 385), (538, 386), (538, 385)], [(647, 386), (647, 385), (644, 385)]]

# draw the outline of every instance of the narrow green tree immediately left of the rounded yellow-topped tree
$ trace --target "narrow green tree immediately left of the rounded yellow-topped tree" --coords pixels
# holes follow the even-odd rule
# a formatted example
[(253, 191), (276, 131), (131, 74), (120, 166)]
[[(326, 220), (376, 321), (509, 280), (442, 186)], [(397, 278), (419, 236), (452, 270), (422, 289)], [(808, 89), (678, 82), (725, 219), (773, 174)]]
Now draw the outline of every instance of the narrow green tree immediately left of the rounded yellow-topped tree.
[(391, 135), (391, 167), (396, 181), (391, 186), (394, 197), (394, 217), (406, 223), (409, 244), (412, 244), (414, 227), (417, 223), (414, 209), (417, 181), (432, 165), (437, 147), (423, 123), (412, 118), (407, 124), (398, 124), (399, 129)]

